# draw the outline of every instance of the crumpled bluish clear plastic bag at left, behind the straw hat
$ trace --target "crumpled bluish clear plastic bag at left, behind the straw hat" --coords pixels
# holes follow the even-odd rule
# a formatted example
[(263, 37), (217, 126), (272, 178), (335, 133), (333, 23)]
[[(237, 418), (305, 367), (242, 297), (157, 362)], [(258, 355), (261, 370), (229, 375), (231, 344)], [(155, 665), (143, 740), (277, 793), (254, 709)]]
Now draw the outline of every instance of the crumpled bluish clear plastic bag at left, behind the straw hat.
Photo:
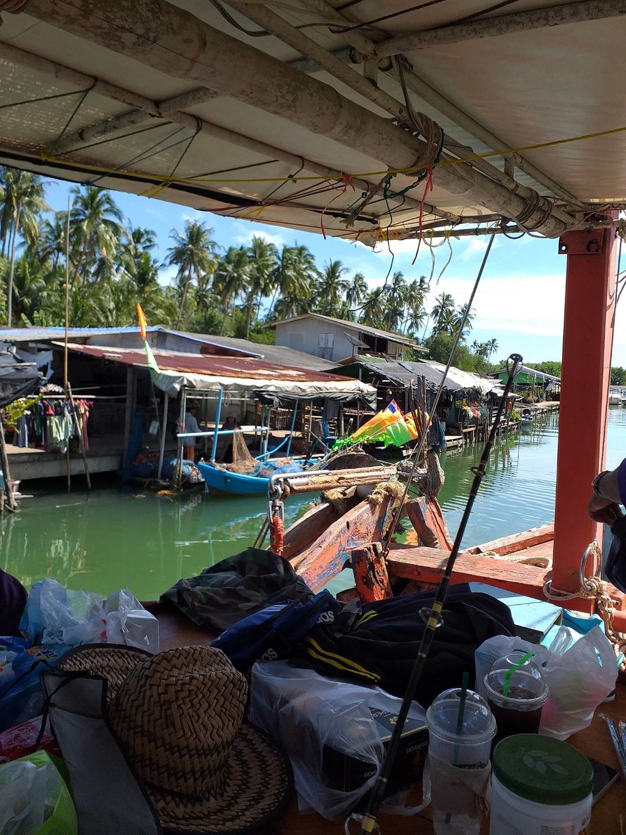
[(20, 630), (33, 644), (99, 644), (103, 642), (104, 618), (99, 595), (69, 590), (47, 578), (33, 585)]

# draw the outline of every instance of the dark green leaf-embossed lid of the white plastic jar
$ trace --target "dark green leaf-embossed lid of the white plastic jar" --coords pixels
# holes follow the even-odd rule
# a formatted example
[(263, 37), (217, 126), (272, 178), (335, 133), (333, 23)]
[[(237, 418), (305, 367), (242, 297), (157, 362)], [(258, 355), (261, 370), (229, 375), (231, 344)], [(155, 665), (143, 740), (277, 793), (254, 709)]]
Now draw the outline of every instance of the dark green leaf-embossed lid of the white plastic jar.
[(502, 786), (535, 803), (577, 803), (593, 787), (593, 768), (587, 757), (551, 736), (507, 736), (497, 743), (492, 766)]

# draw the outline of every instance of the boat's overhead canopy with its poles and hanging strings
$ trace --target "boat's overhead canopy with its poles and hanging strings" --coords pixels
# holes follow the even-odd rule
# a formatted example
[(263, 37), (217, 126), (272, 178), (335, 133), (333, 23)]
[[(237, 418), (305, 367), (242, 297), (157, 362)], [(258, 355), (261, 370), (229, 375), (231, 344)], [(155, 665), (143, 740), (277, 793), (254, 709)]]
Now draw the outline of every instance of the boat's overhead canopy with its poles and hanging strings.
[(0, 0), (0, 163), (371, 245), (556, 237), (626, 202), (625, 11)]

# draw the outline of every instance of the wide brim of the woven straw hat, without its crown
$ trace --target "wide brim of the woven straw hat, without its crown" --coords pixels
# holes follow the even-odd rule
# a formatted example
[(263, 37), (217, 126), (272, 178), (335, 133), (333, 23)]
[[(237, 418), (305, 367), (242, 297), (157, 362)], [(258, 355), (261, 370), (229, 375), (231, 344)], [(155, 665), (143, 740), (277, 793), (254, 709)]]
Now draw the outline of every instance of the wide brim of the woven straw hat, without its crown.
[[(82, 645), (63, 655), (57, 668), (103, 676), (110, 705), (130, 671), (149, 655), (122, 645)], [(224, 790), (215, 797), (185, 797), (148, 783), (144, 786), (168, 832), (235, 835), (263, 826), (280, 812), (289, 801), (293, 776), (289, 760), (275, 742), (244, 723), (230, 749), (221, 782)]]

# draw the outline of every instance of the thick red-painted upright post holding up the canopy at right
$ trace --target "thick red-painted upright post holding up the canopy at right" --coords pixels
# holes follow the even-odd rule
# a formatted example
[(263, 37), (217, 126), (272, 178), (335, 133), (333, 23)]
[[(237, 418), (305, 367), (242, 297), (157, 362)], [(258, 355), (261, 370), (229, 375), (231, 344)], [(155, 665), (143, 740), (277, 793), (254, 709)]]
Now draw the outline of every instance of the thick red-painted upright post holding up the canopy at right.
[[(604, 468), (615, 301), (616, 235), (612, 229), (568, 232), (559, 252), (568, 256), (563, 327), (563, 383), (558, 427), (557, 502), (553, 588), (580, 588), (584, 550), (601, 536), (588, 518), (593, 476)], [(593, 566), (588, 566), (588, 571)], [(589, 600), (568, 608), (591, 610)]]

